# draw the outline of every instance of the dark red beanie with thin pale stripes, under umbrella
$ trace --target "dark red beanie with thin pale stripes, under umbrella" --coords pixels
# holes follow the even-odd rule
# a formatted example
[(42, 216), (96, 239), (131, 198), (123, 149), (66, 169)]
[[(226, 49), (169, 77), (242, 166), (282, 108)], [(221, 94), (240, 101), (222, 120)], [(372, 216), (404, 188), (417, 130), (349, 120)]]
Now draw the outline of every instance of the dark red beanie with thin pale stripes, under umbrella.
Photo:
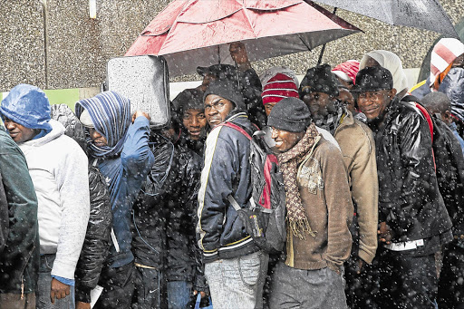
[(265, 83), (261, 97), (265, 105), (284, 98), (299, 98), (298, 87), (292, 77), (278, 72)]

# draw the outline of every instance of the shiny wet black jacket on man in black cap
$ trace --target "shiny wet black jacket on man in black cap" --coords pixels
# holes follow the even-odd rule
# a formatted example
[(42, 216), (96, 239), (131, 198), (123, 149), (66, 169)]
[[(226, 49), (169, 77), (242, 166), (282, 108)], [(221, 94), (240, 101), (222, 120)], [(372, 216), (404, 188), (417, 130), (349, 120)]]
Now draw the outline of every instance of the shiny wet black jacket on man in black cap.
[(420, 111), (395, 98), (382, 128), (371, 122), (379, 177), (379, 221), (393, 242), (439, 236), (451, 221), (438, 189), (430, 129)]

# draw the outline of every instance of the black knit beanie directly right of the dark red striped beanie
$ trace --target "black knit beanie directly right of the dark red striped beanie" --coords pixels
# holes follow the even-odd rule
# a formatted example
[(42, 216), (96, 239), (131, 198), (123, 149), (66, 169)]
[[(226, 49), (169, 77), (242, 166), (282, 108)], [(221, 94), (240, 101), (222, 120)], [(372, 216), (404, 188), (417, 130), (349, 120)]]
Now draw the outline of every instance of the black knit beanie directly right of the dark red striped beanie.
[(338, 95), (338, 79), (329, 64), (317, 65), (309, 69), (300, 83), (300, 98), (308, 92), (324, 92), (336, 97)]

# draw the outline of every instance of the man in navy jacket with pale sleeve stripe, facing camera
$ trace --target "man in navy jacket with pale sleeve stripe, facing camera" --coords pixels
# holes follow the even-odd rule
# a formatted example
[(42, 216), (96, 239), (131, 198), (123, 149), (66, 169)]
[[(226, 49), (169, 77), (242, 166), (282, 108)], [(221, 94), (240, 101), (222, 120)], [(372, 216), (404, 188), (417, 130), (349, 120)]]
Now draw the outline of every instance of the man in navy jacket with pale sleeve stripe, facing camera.
[(242, 132), (220, 124), (232, 122), (250, 135), (254, 128), (234, 83), (212, 82), (204, 100), (205, 115), (213, 129), (206, 141), (198, 191), (197, 233), (213, 307), (260, 308), (268, 255), (247, 234), (227, 201), (230, 195), (241, 208), (249, 207), (250, 141)]

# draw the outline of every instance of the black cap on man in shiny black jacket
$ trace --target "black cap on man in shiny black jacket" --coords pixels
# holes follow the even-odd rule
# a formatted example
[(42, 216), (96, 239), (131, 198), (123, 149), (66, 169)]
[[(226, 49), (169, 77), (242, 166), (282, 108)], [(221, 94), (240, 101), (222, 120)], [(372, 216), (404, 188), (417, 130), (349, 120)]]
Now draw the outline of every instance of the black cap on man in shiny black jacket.
[(391, 89), (393, 89), (391, 72), (382, 66), (370, 66), (356, 74), (356, 85), (352, 92), (376, 92)]

